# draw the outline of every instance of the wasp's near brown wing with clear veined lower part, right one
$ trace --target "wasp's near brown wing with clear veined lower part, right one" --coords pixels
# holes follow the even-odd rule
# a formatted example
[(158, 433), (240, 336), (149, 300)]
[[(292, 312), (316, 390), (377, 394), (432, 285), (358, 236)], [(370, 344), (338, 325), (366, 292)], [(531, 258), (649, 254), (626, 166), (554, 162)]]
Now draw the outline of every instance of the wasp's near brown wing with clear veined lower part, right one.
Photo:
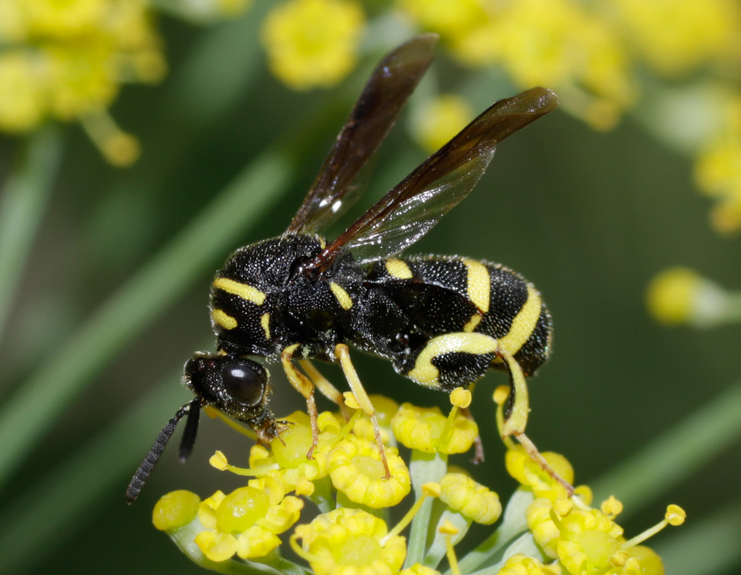
[(541, 87), (499, 100), (348, 227), (310, 267), (321, 272), (345, 250), (368, 263), (412, 245), (473, 189), (496, 144), (557, 105), (556, 94)]

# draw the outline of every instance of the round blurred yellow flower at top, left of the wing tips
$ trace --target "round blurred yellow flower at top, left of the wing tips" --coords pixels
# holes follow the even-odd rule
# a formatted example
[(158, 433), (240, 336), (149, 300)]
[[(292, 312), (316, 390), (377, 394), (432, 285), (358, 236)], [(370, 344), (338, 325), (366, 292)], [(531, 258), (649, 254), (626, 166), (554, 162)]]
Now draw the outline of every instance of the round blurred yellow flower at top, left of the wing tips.
[(262, 42), (270, 70), (293, 89), (308, 90), (348, 75), (364, 28), (355, 0), (288, 0), (268, 14)]

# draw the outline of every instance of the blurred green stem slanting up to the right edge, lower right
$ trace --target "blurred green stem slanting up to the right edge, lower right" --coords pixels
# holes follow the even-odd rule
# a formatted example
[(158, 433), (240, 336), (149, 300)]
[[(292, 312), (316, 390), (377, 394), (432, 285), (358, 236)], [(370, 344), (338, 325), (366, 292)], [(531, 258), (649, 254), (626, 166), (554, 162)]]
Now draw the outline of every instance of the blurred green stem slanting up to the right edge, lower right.
[(702, 468), (741, 436), (741, 382), (645, 445), (592, 483), (594, 500), (611, 494), (625, 503), (624, 519)]

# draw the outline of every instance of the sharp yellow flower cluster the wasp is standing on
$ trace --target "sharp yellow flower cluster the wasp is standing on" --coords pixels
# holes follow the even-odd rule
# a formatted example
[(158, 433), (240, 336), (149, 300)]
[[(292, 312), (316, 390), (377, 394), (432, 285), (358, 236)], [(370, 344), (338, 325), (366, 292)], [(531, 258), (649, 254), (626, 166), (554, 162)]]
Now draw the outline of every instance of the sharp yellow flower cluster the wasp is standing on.
[[(156, 505), (154, 525), (167, 531), (196, 562), (212, 562), (204, 563), (208, 568), (215, 568), (213, 562), (236, 561), (236, 556), (289, 573), (299, 566), (290, 566), (276, 548), (281, 545), (279, 535), (299, 522), (304, 507), (299, 496), (304, 496), (321, 513), (296, 525), (289, 542), (295, 554), (308, 562), (313, 575), (440, 575), (436, 567), (445, 556), (451, 573), (462, 575), (456, 543), (472, 522), (491, 525), (502, 516), (497, 493), (448, 465), (448, 453), (468, 450), (476, 437), (476, 425), (461, 413), (471, 403), (470, 390), (458, 388), (451, 393), (453, 407), (447, 417), (436, 408), (408, 403), (399, 406), (379, 396), (373, 396), (373, 401), (382, 406), (378, 419), (385, 443), (397, 441), (411, 448), (416, 465), (416, 501), (393, 528), (383, 519), (386, 514), (382, 510), (399, 505), (411, 493), (413, 474), (396, 448), (385, 445), (391, 471), (391, 476), (386, 476), (378, 447), (367, 436), (367, 418), (360, 410), (349, 419), (339, 413), (320, 413), (319, 438), (310, 457), (311, 424), (301, 412), (285, 419), (289, 425), (270, 446), (252, 448), (248, 469), (229, 465), (217, 452), (211, 458), (214, 467), (256, 479), (228, 495), (217, 491), (204, 501), (189, 491), (168, 493)], [(498, 409), (501, 411), (502, 405)], [(515, 543), (513, 548), (519, 552), (505, 551), (492, 573), (663, 574), (659, 556), (639, 544), (665, 525), (680, 525), (685, 518), (681, 508), (670, 505), (659, 525), (626, 540), (615, 522), (622, 511), (621, 502), (611, 496), (599, 509), (593, 509), (589, 488), (576, 488), (570, 496), (565, 485), (530, 459), (525, 449), (511, 439), (505, 440), (505, 445), (506, 468), (522, 487), (511, 499), (504, 513), (505, 525), (499, 529), (508, 534), (506, 541), (522, 533), (527, 522), (529, 531), (523, 536), (530, 538), (530, 548), (537, 545), (542, 552), (524, 554), (522, 543)], [(564, 456), (542, 456), (562, 480), (573, 481), (574, 470)], [(295, 495), (288, 494), (292, 491)], [(512, 511), (512, 505), (517, 511)], [(423, 508), (426, 511), (422, 512)], [(433, 517), (437, 522), (434, 529), (430, 523)], [(508, 531), (513, 527), (507, 522), (514, 522), (516, 531)], [(416, 543), (410, 543), (408, 549), (402, 531), (410, 523)], [(420, 536), (432, 539), (422, 545), (428, 552), (420, 556), (418, 549), (413, 558), (419, 561), (410, 560), (408, 551), (419, 548)], [(491, 542), (484, 547), (488, 545)], [(408, 567), (402, 569), (405, 561)], [(287, 565), (290, 568), (285, 571)], [(229, 571), (230, 566), (223, 569)]]

